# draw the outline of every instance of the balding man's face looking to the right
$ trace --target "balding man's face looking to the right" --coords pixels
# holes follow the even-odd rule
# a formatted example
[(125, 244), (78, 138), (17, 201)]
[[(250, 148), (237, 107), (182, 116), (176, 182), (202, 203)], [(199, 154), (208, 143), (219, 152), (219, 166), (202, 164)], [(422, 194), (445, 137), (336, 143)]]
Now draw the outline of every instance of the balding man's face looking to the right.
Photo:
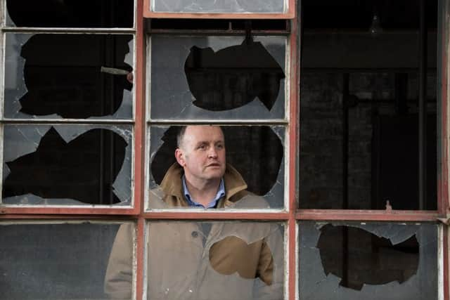
[(175, 151), (188, 181), (210, 181), (224, 176), (225, 141), (219, 126), (187, 126)]

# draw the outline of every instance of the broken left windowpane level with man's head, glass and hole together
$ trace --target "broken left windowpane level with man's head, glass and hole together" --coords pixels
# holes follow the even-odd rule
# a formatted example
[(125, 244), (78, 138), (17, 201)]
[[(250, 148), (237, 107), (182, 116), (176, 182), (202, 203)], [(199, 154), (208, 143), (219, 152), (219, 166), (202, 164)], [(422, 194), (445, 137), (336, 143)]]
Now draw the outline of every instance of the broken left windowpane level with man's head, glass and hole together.
[(131, 204), (128, 125), (4, 125), (3, 204)]

